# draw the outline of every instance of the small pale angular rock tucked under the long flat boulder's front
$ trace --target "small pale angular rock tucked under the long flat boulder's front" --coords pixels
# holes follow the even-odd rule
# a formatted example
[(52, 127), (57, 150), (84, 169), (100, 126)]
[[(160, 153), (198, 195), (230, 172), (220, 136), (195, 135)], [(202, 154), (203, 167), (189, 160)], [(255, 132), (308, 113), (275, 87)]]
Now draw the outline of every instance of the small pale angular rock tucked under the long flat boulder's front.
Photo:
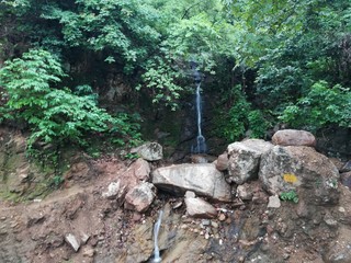
[(196, 218), (215, 218), (217, 210), (211, 204), (202, 198), (185, 198), (186, 213), (191, 217)]

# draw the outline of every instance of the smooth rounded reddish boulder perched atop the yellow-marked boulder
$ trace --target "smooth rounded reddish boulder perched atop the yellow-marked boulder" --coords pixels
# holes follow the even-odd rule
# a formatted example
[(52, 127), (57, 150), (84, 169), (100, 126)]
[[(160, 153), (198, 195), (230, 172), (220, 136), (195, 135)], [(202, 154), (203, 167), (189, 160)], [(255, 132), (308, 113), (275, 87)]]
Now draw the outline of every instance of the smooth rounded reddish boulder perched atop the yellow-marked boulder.
[(306, 130), (298, 129), (282, 129), (278, 130), (273, 137), (272, 142), (280, 146), (316, 146), (315, 136)]

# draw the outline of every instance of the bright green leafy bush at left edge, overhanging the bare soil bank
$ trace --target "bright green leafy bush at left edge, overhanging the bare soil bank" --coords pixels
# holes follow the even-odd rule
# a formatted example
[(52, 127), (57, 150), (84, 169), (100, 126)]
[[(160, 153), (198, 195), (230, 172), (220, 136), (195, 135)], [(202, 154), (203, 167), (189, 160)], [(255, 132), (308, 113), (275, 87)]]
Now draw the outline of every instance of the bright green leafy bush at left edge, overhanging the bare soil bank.
[[(0, 85), (8, 93), (2, 108), (5, 118), (29, 124), (35, 141), (61, 145), (68, 141), (87, 145), (86, 135), (114, 132), (125, 138), (135, 126), (126, 117), (113, 117), (98, 107), (95, 96), (78, 95), (68, 88), (55, 88), (65, 77), (58, 59), (42, 49), (31, 49), (22, 58), (8, 61), (0, 70)], [(80, 87), (78, 93), (89, 91)], [(89, 93), (89, 92), (88, 92)]]

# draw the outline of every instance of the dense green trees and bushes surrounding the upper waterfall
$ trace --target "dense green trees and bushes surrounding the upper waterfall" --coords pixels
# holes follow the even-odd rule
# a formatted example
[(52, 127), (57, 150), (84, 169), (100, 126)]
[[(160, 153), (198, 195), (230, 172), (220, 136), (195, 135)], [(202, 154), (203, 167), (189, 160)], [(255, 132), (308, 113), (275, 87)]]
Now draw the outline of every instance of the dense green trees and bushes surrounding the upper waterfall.
[[(190, 61), (216, 89), (217, 136), (351, 128), (349, 0), (2, 0), (0, 22), (0, 119), (25, 123), (33, 144), (138, 137), (126, 113), (99, 107), (93, 80), (118, 68), (177, 110)], [(67, 67), (87, 60), (105, 71)]]

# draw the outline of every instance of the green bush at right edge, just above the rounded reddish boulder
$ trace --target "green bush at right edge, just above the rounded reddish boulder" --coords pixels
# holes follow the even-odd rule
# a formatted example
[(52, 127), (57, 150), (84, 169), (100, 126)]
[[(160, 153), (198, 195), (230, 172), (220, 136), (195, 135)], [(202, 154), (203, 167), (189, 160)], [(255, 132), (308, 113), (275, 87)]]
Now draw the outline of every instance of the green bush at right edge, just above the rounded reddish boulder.
[(317, 130), (330, 125), (351, 127), (351, 92), (326, 81), (312, 85), (296, 104), (288, 105), (280, 118), (293, 127)]

